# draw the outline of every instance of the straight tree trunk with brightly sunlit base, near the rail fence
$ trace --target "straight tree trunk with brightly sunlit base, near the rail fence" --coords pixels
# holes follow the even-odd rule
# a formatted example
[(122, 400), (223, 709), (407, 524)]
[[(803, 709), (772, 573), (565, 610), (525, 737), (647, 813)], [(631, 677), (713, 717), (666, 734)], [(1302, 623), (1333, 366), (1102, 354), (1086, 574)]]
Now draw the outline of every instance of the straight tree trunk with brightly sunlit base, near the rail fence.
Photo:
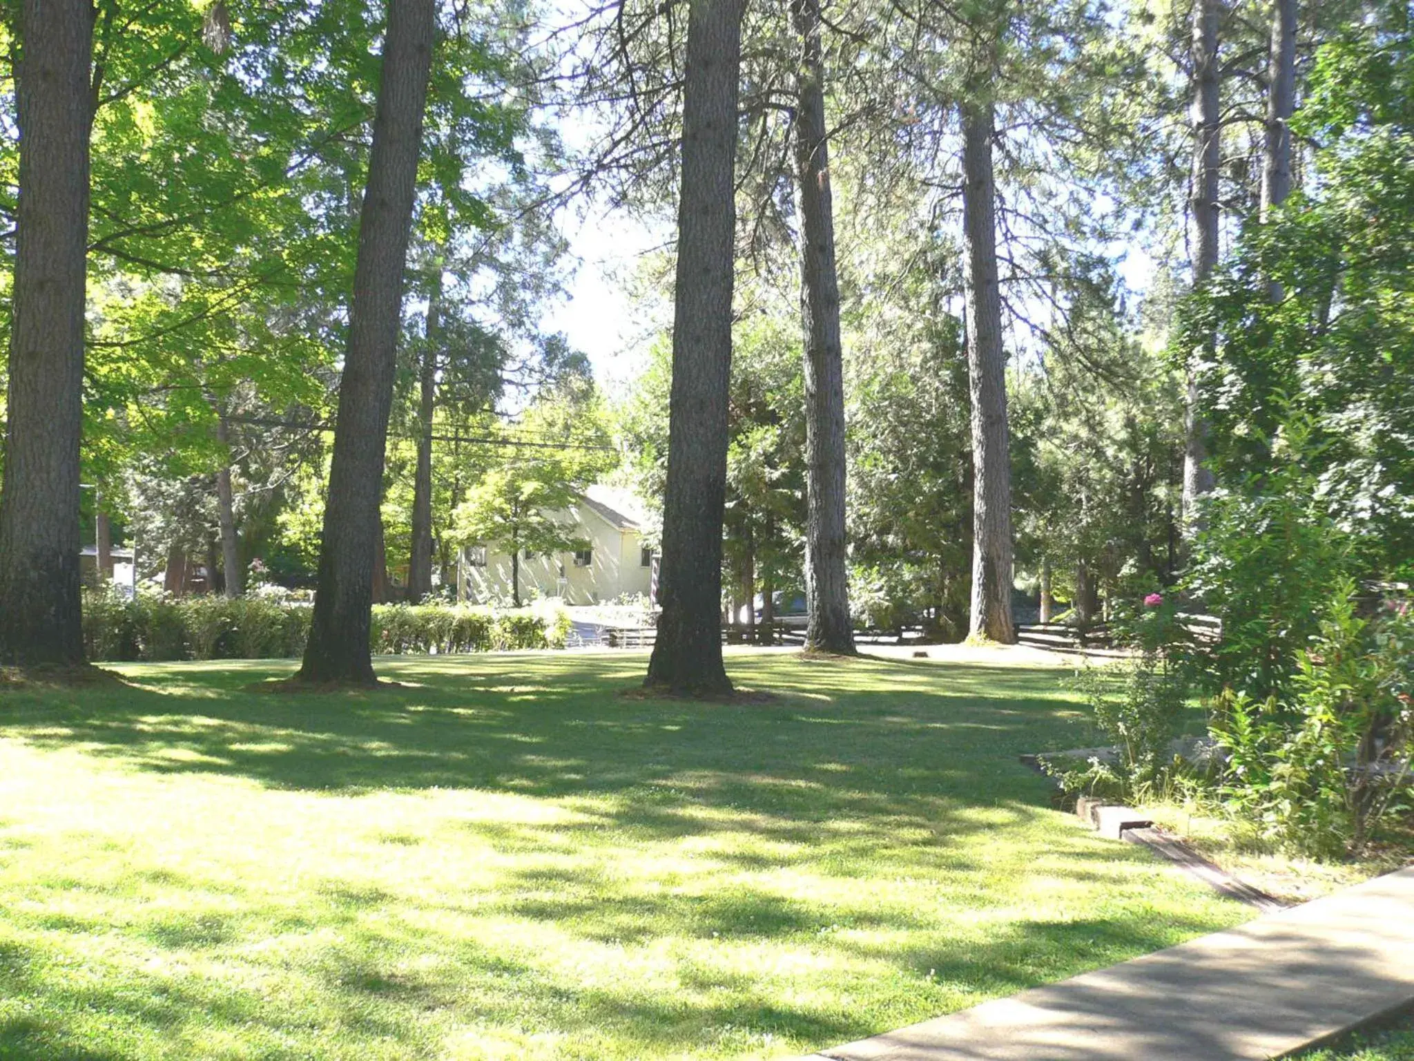
[(969, 632), (1010, 645), (1017, 639), (1011, 621), (1011, 437), (997, 283), (994, 120), (991, 102), (963, 108), (963, 240), (974, 468)]

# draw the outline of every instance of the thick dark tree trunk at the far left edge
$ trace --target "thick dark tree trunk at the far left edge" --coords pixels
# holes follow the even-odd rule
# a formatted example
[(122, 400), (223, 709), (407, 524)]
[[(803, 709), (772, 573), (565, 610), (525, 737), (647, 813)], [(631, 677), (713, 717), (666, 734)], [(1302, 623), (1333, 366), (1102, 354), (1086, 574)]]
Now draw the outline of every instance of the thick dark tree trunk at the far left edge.
[(20, 42), (20, 197), (0, 487), (0, 662), (82, 663), (79, 436), (92, 4), (23, 0)]

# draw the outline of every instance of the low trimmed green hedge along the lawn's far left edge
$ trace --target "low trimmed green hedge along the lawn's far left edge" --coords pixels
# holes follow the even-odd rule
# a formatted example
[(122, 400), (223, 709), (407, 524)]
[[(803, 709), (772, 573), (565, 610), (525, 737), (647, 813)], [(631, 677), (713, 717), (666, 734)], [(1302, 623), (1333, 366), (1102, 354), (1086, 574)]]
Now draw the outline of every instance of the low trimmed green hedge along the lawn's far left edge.
[[(93, 661), (298, 658), (312, 608), (260, 597), (83, 594), (83, 648)], [(451, 604), (376, 604), (375, 654), (564, 648), (563, 611), (495, 611)]]

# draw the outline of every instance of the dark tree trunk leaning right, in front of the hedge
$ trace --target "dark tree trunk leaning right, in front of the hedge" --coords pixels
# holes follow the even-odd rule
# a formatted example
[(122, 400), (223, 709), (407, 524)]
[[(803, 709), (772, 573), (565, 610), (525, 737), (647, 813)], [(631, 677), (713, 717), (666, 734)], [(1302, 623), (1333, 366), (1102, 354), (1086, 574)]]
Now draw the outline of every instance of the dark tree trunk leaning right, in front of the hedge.
[(380, 533), (383, 447), (413, 221), (434, 0), (387, 0), (383, 81), (359, 221), (349, 341), (339, 381), (334, 464), (324, 506), (314, 621), (300, 678), (372, 685), (369, 625)]

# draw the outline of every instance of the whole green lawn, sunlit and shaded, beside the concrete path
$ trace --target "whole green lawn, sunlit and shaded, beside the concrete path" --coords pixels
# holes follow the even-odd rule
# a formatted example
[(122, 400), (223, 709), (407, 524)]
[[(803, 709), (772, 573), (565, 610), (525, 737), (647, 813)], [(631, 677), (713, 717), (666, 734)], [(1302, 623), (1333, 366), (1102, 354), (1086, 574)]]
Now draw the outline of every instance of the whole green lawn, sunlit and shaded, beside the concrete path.
[(790, 1057), (1250, 917), (1051, 808), (1065, 672), (735, 652), (0, 692), (0, 1058)]

